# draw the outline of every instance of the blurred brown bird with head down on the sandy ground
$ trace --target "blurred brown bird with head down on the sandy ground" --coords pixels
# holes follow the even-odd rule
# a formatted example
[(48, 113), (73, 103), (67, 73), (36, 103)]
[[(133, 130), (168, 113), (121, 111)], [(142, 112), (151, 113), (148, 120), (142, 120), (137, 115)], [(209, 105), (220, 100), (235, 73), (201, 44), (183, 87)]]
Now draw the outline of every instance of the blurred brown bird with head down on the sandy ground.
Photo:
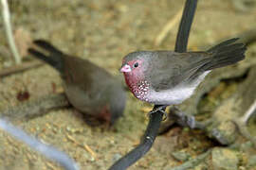
[(86, 59), (65, 55), (43, 40), (29, 48), (33, 57), (60, 72), (64, 92), (74, 108), (113, 124), (123, 113), (126, 93), (118, 78)]

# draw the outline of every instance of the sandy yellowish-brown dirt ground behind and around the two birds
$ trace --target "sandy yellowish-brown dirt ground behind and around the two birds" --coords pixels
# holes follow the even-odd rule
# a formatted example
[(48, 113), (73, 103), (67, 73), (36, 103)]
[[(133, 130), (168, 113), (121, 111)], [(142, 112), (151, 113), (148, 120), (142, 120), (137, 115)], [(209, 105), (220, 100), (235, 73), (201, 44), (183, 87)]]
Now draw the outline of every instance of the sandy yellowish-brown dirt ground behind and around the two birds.
[[(121, 76), (118, 69), (126, 54), (135, 50), (174, 49), (178, 24), (160, 46), (155, 46), (154, 42), (163, 26), (182, 8), (185, 1), (11, 2), (13, 29), (22, 29), (17, 33), (20, 34), (18, 41), (24, 42), (26, 37), (32, 40), (46, 39), (65, 53), (89, 59), (113, 75)], [(5, 49), (8, 45), (2, 19), (0, 21), (0, 45), (1, 49)], [(255, 21), (255, 8), (238, 12), (231, 1), (199, 1), (189, 47), (197, 49), (204, 44), (231, 37), (255, 27)], [(9, 65), (9, 58), (1, 55), (0, 59), (0, 68), (5, 69)], [(0, 108), (20, 104), (21, 101), (17, 99), (20, 92), (28, 92), (30, 100), (53, 93), (55, 89), (62, 89), (61, 77), (47, 65), (1, 78)], [(112, 128), (106, 125), (90, 127), (85, 124), (82, 114), (73, 109), (52, 110), (44, 116), (15, 124), (46, 144), (64, 150), (78, 162), (81, 169), (103, 170), (139, 143), (147, 125), (146, 113), (151, 106), (138, 101), (131, 93), (128, 96), (124, 117)], [(77, 144), (70, 138), (75, 139)], [(78, 144), (87, 145), (96, 156)], [(182, 161), (176, 161), (172, 152), (186, 151), (194, 157), (212, 145), (210, 139), (200, 131), (174, 127), (166, 135), (156, 138), (151, 151), (130, 169), (160, 170), (179, 165)], [(1, 130), (0, 153), (0, 170), (61, 169)]]

